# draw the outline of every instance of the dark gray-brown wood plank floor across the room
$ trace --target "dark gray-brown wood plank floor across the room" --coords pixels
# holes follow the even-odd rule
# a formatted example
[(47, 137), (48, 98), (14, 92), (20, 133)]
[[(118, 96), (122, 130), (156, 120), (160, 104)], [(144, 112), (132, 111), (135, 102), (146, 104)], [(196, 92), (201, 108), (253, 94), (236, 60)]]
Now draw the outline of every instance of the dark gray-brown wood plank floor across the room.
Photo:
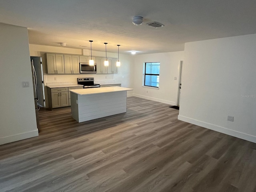
[(40, 110), (40, 136), (0, 146), (1, 192), (256, 192), (256, 144), (136, 97), (78, 123)]

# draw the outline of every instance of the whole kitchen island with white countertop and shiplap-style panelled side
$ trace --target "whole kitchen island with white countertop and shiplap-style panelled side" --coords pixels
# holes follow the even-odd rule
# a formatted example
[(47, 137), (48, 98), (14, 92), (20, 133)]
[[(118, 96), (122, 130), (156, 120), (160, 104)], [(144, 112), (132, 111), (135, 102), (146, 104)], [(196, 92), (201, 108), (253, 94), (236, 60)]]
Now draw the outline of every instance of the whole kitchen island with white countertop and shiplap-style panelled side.
[(70, 90), (72, 117), (78, 122), (89, 121), (126, 112), (125, 87), (99, 87)]

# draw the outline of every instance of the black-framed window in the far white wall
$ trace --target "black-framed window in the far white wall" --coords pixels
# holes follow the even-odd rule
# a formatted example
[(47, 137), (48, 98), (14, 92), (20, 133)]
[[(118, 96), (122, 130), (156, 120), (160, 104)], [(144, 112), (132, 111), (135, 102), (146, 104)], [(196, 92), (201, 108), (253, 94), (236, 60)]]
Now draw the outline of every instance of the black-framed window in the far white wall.
[(144, 86), (159, 87), (160, 62), (145, 63)]

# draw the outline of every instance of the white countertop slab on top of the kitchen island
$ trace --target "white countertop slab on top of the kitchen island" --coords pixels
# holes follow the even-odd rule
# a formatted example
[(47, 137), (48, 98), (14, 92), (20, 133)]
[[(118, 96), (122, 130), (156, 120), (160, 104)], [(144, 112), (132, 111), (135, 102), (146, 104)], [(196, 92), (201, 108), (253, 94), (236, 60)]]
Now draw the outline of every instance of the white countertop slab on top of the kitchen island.
[(98, 88), (88, 88), (88, 89), (73, 89), (70, 92), (73, 92), (78, 95), (88, 95), (88, 94), (98, 94), (98, 93), (108, 93), (108, 92), (118, 92), (118, 91), (129, 91), (133, 90), (126, 87), (98, 87)]

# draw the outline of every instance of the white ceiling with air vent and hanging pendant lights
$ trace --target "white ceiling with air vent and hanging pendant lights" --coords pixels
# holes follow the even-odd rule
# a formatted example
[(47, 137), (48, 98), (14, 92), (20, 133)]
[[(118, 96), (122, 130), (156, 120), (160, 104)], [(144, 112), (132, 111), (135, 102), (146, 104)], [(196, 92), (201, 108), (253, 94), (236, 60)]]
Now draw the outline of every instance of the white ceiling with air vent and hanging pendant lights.
[[(133, 16), (144, 22), (132, 24)], [(165, 26), (152, 28), (146, 23)], [(256, 0), (0, 0), (0, 22), (28, 28), (29, 43), (138, 54), (185, 42), (256, 33)], [(81, 47), (81, 45), (88, 47)]]

